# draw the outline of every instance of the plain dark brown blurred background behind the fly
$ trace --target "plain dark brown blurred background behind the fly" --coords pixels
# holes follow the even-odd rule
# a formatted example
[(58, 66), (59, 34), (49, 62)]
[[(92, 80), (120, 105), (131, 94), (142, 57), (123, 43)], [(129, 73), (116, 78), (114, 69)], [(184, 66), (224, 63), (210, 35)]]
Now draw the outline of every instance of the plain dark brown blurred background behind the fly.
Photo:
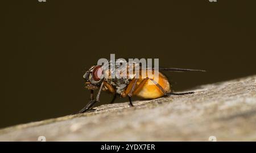
[(255, 1), (46, 1), (1, 2), (0, 127), (80, 110), (110, 53), (208, 71), (166, 73), (176, 91), (256, 72)]

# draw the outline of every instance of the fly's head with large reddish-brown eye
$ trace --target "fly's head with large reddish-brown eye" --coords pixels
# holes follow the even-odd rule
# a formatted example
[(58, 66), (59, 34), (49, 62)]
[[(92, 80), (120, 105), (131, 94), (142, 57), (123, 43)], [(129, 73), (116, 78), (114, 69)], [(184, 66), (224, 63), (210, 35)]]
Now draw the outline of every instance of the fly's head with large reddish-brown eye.
[(94, 65), (85, 72), (83, 77), (86, 81), (86, 88), (89, 90), (95, 90), (100, 86), (104, 78), (104, 70), (100, 65)]

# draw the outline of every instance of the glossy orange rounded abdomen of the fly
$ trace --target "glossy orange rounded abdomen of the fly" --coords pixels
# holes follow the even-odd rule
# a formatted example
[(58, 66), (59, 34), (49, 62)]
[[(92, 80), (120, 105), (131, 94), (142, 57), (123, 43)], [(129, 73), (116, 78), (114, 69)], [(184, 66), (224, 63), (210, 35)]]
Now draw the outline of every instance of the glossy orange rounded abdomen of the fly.
[[(139, 79), (137, 81), (137, 85), (139, 85), (142, 82), (143, 79)], [(155, 80), (156, 81), (156, 80)], [(168, 93), (171, 92), (171, 85), (169, 81), (167, 80), (166, 76), (164, 76), (162, 73), (159, 72), (158, 81), (156, 81), (162, 88)], [(150, 79), (148, 79), (145, 84), (142, 86), (140, 90), (138, 90), (134, 95), (146, 99), (154, 99), (159, 98), (164, 95), (164, 93), (152, 82)]]

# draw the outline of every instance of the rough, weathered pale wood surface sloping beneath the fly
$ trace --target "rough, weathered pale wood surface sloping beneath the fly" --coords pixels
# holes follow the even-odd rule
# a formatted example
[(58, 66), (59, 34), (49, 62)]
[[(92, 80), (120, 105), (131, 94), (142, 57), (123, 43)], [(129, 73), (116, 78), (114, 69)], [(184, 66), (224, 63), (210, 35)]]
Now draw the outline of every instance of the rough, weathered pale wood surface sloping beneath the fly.
[(0, 130), (1, 141), (256, 140), (256, 76), (203, 85), (195, 94), (102, 105)]

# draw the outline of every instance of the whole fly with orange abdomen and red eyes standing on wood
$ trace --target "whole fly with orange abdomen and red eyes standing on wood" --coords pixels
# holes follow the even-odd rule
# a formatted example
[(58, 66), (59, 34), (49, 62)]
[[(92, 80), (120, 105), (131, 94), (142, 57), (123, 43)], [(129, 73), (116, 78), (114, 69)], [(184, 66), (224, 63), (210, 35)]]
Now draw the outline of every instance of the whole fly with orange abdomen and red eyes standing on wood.
[[(139, 66), (138, 63), (133, 63), (137, 65), (139, 71), (143, 69)], [(129, 65), (127, 64), (126, 67), (121, 69), (118, 72), (122, 74), (122, 72), (127, 73)], [(115, 66), (115, 69), (118, 69), (119, 66)], [(126, 71), (125, 71), (126, 68)], [(155, 69), (147, 69), (147, 71), (156, 71)], [(132, 97), (138, 96), (144, 99), (155, 99), (163, 96), (170, 96), (170, 95), (183, 95), (183, 94), (192, 94), (194, 92), (186, 92), (186, 93), (174, 93), (172, 92), (170, 82), (168, 81), (167, 77), (163, 75), (160, 71), (175, 71), (175, 72), (185, 72), (185, 71), (197, 71), (197, 72), (204, 72), (203, 70), (199, 69), (181, 69), (181, 68), (158, 68), (158, 80), (155, 81), (154, 78), (149, 77), (148, 75), (143, 78), (141, 76), (141, 72), (139, 73), (139, 77), (135, 78), (131, 76), (127, 78), (105, 78), (103, 77), (104, 74), (110, 74), (109, 69), (104, 69), (102, 65), (93, 65), (89, 68), (88, 71), (84, 74), (85, 80), (85, 88), (90, 90), (90, 101), (88, 104), (80, 110), (78, 113), (84, 113), (92, 108), (92, 106), (100, 101), (100, 94), (101, 91), (108, 91), (109, 93), (113, 94), (113, 100), (111, 103), (114, 102), (117, 96), (120, 97), (128, 97), (131, 106), (133, 105)], [(134, 74), (133, 74), (134, 75)], [(151, 81), (151, 82), (150, 82)], [(99, 89), (96, 98), (94, 99), (93, 93), (94, 90)]]

